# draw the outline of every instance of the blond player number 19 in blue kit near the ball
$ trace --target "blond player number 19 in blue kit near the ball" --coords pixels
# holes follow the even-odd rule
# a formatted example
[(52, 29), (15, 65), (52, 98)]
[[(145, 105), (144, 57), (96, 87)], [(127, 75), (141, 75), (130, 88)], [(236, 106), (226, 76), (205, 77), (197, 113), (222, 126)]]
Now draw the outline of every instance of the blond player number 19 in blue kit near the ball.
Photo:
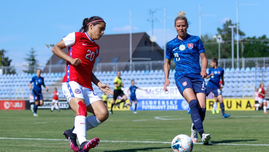
[[(204, 145), (209, 144), (210, 134), (204, 133), (203, 121), (206, 112), (206, 84), (204, 78), (207, 77), (207, 56), (204, 44), (198, 36), (187, 34), (188, 21), (185, 11), (179, 12), (175, 18), (175, 30), (178, 35), (166, 46), (166, 60), (164, 63), (164, 91), (169, 86), (169, 70), (171, 59), (174, 58), (175, 82), (180, 94), (189, 103), (191, 110), (191, 138), (197, 142), (198, 133)], [(202, 69), (199, 64), (199, 55), (202, 59)]]

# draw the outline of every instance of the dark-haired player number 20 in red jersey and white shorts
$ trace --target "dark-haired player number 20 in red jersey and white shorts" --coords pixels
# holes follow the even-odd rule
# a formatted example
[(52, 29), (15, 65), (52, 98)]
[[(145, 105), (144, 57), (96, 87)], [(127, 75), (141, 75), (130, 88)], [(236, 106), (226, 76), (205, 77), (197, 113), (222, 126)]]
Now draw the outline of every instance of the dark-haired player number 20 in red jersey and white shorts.
[[(108, 110), (102, 99), (93, 91), (91, 82), (107, 95), (114, 94), (110, 86), (101, 83), (92, 72), (99, 55), (99, 46), (94, 40), (99, 40), (104, 34), (106, 23), (102, 18), (93, 16), (85, 18), (82, 24), (79, 32), (68, 34), (52, 49), (55, 55), (67, 61), (62, 92), (76, 117), (74, 127), (66, 130), (64, 135), (76, 152), (87, 152), (98, 145), (99, 138), (87, 142), (86, 130), (97, 127), (108, 118)], [(68, 55), (62, 51), (66, 47), (69, 49)], [(87, 117), (87, 111), (93, 115)]]

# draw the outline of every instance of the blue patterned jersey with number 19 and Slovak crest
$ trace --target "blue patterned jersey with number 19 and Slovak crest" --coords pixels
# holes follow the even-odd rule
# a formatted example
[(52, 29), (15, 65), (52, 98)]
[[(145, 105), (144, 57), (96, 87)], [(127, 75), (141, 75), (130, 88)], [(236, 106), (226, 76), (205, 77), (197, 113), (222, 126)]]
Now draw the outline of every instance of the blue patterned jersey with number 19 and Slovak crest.
[(198, 36), (187, 34), (183, 40), (178, 36), (169, 41), (166, 46), (166, 58), (174, 58), (175, 81), (181, 77), (188, 77), (195, 80), (204, 80), (201, 76), (199, 54), (205, 52), (204, 44)]

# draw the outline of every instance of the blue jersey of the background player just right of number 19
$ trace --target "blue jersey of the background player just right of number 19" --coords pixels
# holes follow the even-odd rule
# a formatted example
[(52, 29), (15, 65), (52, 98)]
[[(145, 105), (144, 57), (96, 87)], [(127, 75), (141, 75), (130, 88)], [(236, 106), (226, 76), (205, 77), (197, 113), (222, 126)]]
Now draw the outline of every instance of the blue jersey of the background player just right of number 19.
[(207, 83), (207, 87), (213, 89), (219, 88), (219, 81), (220, 78), (224, 75), (224, 70), (221, 67), (218, 67), (218, 69), (209, 68), (208, 75), (210, 75), (211, 73), (214, 73), (214, 75), (210, 77), (210, 80)]

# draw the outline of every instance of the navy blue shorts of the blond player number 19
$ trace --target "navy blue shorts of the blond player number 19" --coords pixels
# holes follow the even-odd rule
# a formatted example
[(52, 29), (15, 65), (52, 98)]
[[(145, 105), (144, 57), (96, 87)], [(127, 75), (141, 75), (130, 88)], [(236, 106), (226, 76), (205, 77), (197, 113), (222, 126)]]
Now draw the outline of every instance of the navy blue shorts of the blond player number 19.
[(206, 94), (206, 84), (203, 80), (193, 80), (188, 77), (181, 77), (177, 80), (176, 85), (182, 96), (182, 92), (187, 88), (191, 88), (195, 93)]

